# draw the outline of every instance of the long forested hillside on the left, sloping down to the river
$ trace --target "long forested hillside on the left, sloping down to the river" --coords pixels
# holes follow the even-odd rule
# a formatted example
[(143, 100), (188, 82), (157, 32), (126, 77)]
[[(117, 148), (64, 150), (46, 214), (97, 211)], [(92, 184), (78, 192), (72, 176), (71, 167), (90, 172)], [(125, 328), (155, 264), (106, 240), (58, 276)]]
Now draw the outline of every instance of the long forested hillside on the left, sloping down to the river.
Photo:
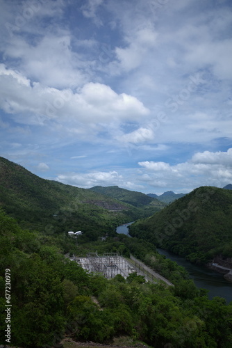
[(83, 230), (92, 235), (106, 233), (119, 223), (144, 216), (132, 205), (88, 189), (42, 179), (3, 157), (0, 157), (0, 205), (22, 227), (47, 234), (64, 230)]

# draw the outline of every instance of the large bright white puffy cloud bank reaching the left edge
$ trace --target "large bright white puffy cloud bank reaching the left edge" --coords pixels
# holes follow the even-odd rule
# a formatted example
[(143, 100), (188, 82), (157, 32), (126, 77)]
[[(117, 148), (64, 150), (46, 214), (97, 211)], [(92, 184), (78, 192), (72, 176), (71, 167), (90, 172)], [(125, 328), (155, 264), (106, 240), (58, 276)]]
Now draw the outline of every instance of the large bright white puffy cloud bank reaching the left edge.
[(137, 98), (99, 83), (88, 83), (77, 93), (32, 83), (22, 74), (0, 65), (0, 105), (17, 114), (17, 122), (42, 125), (46, 120), (74, 123), (139, 120), (149, 110)]

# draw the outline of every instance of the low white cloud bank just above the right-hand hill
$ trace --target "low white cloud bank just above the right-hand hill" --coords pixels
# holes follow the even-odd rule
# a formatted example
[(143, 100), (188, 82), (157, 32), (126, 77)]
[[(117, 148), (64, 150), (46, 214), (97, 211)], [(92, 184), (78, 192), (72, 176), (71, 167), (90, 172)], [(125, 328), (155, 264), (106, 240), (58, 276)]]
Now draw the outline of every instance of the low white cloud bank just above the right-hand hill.
[(223, 187), (232, 182), (232, 149), (227, 152), (197, 152), (189, 161), (171, 165), (142, 161), (142, 180), (153, 187)]

